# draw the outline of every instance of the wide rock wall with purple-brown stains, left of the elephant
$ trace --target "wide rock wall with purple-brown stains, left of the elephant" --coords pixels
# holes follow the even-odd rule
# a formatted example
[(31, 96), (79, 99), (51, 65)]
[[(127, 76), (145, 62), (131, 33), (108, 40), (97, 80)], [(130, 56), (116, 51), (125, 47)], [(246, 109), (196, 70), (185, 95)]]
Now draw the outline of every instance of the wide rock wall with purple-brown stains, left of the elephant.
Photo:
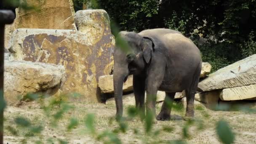
[(94, 45), (89, 35), (74, 30), (17, 29), (9, 59), (64, 65), (67, 82), (63, 92), (77, 92), (96, 101), (98, 78), (112, 69), (111, 38), (110, 28)]

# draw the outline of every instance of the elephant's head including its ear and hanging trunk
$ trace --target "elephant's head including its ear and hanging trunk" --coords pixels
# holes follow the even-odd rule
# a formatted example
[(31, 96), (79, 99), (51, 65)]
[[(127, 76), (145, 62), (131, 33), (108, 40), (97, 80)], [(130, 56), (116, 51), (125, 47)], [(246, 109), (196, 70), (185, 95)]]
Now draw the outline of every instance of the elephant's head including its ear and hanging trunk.
[(120, 32), (114, 51), (114, 95), (117, 118), (123, 115), (123, 83), (128, 75), (138, 75), (145, 70), (152, 58), (154, 41), (135, 32)]

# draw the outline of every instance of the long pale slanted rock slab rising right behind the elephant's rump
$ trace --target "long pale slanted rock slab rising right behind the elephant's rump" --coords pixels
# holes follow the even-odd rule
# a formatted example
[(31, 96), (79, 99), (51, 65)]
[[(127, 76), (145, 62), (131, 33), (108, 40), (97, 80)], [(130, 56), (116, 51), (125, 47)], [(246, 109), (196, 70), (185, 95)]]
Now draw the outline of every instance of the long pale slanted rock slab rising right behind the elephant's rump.
[(211, 91), (252, 84), (256, 84), (256, 54), (210, 74), (198, 88)]

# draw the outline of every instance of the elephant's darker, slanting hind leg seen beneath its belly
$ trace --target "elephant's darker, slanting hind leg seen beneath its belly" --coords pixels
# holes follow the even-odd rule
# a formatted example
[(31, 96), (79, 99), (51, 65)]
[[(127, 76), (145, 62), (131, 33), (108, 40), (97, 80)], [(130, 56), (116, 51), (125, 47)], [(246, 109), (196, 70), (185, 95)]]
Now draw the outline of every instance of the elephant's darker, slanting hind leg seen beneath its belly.
[(165, 100), (163, 102), (160, 113), (157, 115), (157, 120), (171, 119), (171, 106), (173, 104), (175, 93), (165, 92)]

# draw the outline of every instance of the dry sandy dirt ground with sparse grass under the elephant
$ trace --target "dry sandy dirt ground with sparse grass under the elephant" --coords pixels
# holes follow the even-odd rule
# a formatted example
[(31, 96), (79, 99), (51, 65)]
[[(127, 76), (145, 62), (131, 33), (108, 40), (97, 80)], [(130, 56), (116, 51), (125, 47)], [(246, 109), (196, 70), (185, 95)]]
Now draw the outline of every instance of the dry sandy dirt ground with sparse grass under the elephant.
[[(52, 125), (51, 117), (46, 116), (42, 107), (37, 102), (30, 102), (21, 107), (7, 107), (4, 119), (4, 144), (35, 143), (60, 143), (59, 140), (68, 141), (69, 144), (100, 144), (95, 136), (88, 134), (84, 125), (84, 117), (91, 113), (95, 115), (95, 127), (97, 133), (105, 130), (111, 131), (119, 125), (113, 116), (115, 115), (114, 104), (94, 104), (87, 102), (72, 102), (75, 109), (68, 111), (64, 117)], [(157, 104), (157, 113), (161, 104)], [(126, 112), (128, 106), (125, 106)], [(253, 106), (253, 108), (256, 108)], [(55, 107), (51, 112), (57, 112), (60, 108)], [(173, 120), (156, 121), (151, 134), (145, 134), (144, 123), (138, 119), (127, 121), (128, 128), (125, 133), (118, 134), (123, 144), (145, 144), (145, 143), (170, 143), (172, 140), (182, 139), (183, 127), (186, 121), (182, 119), (185, 115), (185, 108), (181, 111), (171, 112)], [(33, 125), (43, 125), (40, 134), (29, 133), (27, 128), (15, 124), (16, 117), (27, 117)], [(76, 117), (79, 124), (71, 131), (67, 131), (69, 119)], [(236, 144), (256, 144), (256, 114), (246, 112), (224, 112), (213, 111), (205, 108), (202, 104), (195, 105), (195, 118), (201, 120), (201, 129), (197, 123), (189, 127), (189, 137), (185, 139), (188, 144), (219, 144), (221, 143), (216, 134), (216, 123), (225, 120), (229, 123), (235, 133)], [(169, 130), (159, 131), (165, 127)], [(10, 130), (10, 128), (12, 128)], [(171, 130), (170, 130), (171, 129)], [(15, 131), (13, 133), (11, 131)], [(156, 133), (159, 133), (158, 135)], [(49, 142), (51, 139), (53, 142)], [(64, 143), (63, 143), (64, 144)]]

